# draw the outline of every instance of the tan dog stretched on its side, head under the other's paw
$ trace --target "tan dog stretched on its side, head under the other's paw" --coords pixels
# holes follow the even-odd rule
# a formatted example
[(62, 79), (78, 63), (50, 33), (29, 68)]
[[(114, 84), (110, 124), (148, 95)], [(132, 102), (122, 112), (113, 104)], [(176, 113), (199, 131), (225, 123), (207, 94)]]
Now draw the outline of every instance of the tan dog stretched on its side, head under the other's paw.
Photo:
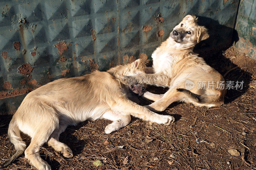
[[(2, 168), (20, 156), (26, 147), (20, 131), (31, 137), (25, 150), (25, 158), (39, 170), (50, 170), (50, 165), (39, 155), (39, 149), (47, 143), (64, 157), (71, 158), (71, 149), (59, 142), (59, 135), (68, 125), (85, 120), (105, 118), (113, 122), (106, 133), (116, 131), (131, 121), (131, 115), (143, 120), (169, 125), (174, 118), (159, 115), (127, 98), (129, 87), (115, 76), (138, 75), (146, 66), (140, 60), (124, 66), (116, 66), (108, 72), (94, 71), (81, 77), (62, 78), (28, 93), (9, 124), (8, 135), (17, 152)], [(114, 76), (113, 76), (114, 75)], [(132, 90), (139, 93), (140, 85)]]

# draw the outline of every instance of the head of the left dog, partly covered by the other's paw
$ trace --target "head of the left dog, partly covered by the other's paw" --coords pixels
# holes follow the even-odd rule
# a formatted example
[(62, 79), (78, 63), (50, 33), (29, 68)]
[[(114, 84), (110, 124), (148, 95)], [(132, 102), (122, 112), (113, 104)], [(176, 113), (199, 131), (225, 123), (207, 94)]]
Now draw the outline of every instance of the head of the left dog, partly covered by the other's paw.
[[(143, 73), (145, 73), (146, 68), (147, 67), (146, 67), (145, 63), (143, 63), (143, 61), (138, 59), (129, 64), (118, 65), (116, 67), (113, 67), (113, 68), (109, 69), (107, 72), (109, 74), (115, 76), (116, 78), (119, 78), (120, 75), (137, 76), (137, 75), (143, 74)], [(127, 88), (128, 88), (128, 86), (127, 86)], [(130, 85), (129, 89), (138, 95), (142, 95), (146, 91), (146, 88), (144, 87), (144, 85), (138, 84), (138, 83), (134, 84), (134, 85)]]

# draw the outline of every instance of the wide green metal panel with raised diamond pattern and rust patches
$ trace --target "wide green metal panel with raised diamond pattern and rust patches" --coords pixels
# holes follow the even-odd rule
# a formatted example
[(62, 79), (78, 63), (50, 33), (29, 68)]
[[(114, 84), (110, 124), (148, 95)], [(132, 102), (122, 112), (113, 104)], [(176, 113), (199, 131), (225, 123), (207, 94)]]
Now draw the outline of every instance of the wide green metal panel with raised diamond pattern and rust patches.
[(224, 48), (231, 43), (237, 5), (238, 0), (1, 1), (0, 114), (13, 113), (26, 93), (54, 79), (137, 58), (149, 63), (187, 14), (209, 28), (211, 38), (197, 49)]

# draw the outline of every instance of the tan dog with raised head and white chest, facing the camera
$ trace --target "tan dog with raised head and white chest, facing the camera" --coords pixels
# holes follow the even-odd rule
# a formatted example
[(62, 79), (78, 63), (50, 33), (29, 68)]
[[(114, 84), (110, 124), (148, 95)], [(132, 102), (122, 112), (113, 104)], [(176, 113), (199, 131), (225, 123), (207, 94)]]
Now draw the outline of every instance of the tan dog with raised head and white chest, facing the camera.
[(169, 87), (164, 95), (150, 92), (142, 95), (155, 101), (145, 106), (151, 111), (163, 111), (175, 101), (206, 107), (223, 104), (226, 94), (224, 78), (193, 52), (198, 42), (209, 37), (207, 29), (196, 22), (195, 16), (187, 15), (174, 27), (170, 37), (156, 48), (152, 54), (153, 74), (120, 77), (124, 84), (145, 83)]

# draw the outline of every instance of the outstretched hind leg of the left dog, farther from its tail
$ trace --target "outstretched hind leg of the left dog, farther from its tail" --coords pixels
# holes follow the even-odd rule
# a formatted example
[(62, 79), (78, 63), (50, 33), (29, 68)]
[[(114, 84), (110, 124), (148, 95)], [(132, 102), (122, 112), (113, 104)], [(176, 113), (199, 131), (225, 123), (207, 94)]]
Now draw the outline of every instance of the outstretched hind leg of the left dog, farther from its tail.
[(61, 152), (64, 157), (71, 158), (73, 157), (72, 150), (66, 145), (59, 141), (60, 134), (67, 128), (67, 125), (60, 124), (58, 129), (55, 129), (52, 132), (52, 135), (47, 141), (48, 146), (52, 146), (55, 151)]

